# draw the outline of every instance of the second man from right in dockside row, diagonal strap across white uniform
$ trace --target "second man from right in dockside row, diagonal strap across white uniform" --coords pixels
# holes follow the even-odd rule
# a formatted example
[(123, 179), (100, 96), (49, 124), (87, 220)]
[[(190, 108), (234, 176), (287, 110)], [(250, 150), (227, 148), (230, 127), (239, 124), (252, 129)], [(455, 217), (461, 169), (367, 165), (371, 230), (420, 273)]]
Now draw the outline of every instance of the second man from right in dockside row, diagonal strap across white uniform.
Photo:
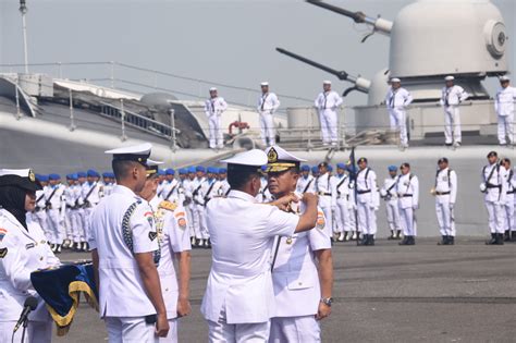
[(505, 221), (503, 205), (507, 196), (506, 170), (499, 164), (496, 151), (488, 154), (488, 161), (489, 164), (482, 168), (482, 183), (480, 184), (480, 192), (484, 194), (483, 201), (488, 209), (489, 229), (491, 231), (491, 240), (486, 244), (503, 245)]

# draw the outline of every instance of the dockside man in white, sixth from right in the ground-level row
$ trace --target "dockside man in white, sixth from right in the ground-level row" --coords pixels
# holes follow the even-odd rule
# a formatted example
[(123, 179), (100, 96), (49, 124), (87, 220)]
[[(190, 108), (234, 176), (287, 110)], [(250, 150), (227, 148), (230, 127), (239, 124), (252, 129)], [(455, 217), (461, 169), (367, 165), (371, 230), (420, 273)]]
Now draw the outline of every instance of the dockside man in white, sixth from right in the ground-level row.
[(368, 167), (367, 158), (357, 161), (356, 175), (358, 231), (363, 233), (359, 245), (374, 245), (377, 234), (378, 199), (377, 173)]

